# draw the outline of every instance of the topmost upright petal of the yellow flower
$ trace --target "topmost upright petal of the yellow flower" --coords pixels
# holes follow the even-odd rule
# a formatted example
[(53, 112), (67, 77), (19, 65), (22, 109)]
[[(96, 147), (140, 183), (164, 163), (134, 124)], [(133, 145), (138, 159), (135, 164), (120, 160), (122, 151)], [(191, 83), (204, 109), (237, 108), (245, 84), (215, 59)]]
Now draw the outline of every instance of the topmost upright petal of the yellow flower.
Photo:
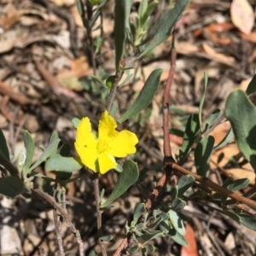
[(112, 116), (108, 115), (108, 111), (102, 113), (99, 122), (99, 140), (109, 140), (112, 137), (116, 137), (119, 133), (115, 131), (117, 124)]

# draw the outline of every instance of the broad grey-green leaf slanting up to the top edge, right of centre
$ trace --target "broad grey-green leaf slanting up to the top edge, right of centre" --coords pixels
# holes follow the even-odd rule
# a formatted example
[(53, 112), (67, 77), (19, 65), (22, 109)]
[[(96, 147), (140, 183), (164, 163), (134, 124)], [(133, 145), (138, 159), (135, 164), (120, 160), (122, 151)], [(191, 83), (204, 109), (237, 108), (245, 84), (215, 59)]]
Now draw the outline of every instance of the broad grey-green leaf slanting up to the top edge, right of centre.
[(138, 56), (138, 58), (146, 55), (149, 51), (170, 37), (172, 28), (183, 14), (183, 10), (187, 7), (188, 3), (189, 0), (179, 0), (176, 2), (173, 9), (166, 9), (162, 12), (160, 18), (154, 23), (153, 29), (149, 33), (148, 38), (145, 40), (145, 42), (150, 40), (149, 44), (145, 49), (143, 49), (143, 52)]

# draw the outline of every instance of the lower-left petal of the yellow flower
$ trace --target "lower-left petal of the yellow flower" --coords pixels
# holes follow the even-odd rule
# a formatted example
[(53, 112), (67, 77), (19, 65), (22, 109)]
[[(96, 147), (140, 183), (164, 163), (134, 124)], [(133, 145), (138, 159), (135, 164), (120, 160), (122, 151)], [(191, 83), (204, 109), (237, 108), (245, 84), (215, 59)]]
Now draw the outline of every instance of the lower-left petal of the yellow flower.
[(77, 142), (75, 142), (75, 148), (84, 166), (87, 166), (88, 168), (90, 168), (90, 170), (97, 172), (96, 171), (96, 160), (98, 157), (97, 149), (80, 147)]

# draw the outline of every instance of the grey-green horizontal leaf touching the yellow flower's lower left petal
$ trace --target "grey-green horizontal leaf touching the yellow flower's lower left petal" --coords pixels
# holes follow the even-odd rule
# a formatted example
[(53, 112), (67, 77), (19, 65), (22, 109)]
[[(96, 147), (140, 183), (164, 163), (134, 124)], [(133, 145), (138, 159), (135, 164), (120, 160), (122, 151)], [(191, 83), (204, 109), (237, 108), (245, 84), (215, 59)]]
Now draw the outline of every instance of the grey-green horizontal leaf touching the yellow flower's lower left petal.
[(77, 172), (83, 166), (79, 158), (64, 157), (61, 154), (55, 154), (46, 161), (44, 168), (46, 172)]

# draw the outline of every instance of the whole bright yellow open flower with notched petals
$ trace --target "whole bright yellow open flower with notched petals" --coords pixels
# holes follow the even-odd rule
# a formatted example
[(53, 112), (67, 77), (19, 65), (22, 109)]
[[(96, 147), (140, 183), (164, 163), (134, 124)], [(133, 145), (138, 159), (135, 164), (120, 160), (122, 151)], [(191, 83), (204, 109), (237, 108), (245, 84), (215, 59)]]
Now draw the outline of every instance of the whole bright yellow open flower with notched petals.
[(117, 166), (114, 157), (125, 157), (136, 152), (136, 134), (127, 130), (116, 131), (116, 127), (113, 117), (104, 111), (96, 137), (91, 131), (90, 119), (81, 119), (77, 127), (75, 148), (84, 166), (104, 174)]

